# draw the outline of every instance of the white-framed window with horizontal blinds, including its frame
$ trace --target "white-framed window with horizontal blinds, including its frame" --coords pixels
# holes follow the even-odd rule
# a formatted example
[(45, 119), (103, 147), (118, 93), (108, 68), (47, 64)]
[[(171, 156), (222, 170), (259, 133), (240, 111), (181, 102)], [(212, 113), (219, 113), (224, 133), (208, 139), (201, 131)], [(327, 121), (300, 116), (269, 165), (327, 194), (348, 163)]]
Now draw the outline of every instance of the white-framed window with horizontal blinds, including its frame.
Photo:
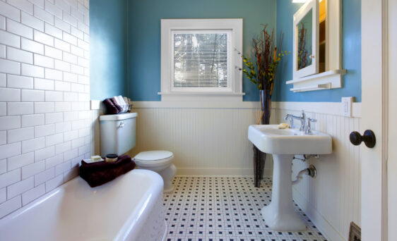
[(242, 19), (161, 20), (162, 100), (242, 101)]

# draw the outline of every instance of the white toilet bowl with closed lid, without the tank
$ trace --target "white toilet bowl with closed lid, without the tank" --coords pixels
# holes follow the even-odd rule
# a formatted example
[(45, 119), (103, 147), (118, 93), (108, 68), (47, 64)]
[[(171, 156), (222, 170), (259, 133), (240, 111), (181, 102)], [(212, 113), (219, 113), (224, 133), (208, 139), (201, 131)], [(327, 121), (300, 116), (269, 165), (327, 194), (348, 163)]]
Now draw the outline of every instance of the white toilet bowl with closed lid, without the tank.
[(177, 173), (177, 168), (172, 164), (174, 155), (167, 151), (140, 152), (134, 156), (136, 166), (140, 169), (155, 171), (162, 176), (164, 181), (164, 192), (172, 192), (172, 178)]

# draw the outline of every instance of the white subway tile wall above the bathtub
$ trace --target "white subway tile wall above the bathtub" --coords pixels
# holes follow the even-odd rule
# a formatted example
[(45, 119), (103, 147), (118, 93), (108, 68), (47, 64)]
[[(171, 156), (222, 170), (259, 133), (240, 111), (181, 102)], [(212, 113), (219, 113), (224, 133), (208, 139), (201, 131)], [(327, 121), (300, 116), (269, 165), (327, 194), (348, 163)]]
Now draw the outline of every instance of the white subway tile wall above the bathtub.
[(0, 0), (0, 218), (90, 156), (89, 1)]

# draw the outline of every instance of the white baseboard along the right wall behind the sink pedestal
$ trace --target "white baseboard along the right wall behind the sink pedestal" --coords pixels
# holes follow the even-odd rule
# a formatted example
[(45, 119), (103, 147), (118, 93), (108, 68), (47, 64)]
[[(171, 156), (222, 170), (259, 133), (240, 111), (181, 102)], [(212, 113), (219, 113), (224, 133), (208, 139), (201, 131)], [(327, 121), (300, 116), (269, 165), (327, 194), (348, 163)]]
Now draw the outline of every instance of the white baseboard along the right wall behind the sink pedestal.
[(316, 225), (316, 228), (324, 235), (324, 237), (326, 237), (327, 240), (346, 241), (343, 235), (333, 228), (331, 223), (328, 223), (326, 218), (324, 218), (324, 216), (322, 216), (319, 211), (317, 211), (314, 206), (309, 203), (302, 194), (300, 194), (300, 192), (293, 190), (293, 196), (295, 203), (304, 211), (304, 214), (310, 218), (312, 223)]

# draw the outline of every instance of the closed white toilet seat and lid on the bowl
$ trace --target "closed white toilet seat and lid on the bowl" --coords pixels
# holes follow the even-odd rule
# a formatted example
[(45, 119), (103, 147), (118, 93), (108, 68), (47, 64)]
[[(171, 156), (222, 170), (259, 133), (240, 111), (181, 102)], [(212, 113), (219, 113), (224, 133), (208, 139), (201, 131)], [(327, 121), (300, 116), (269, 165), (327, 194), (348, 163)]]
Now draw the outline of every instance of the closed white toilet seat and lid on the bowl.
[(167, 151), (149, 151), (139, 152), (134, 156), (134, 161), (139, 166), (158, 166), (169, 163), (174, 158), (172, 152)]

